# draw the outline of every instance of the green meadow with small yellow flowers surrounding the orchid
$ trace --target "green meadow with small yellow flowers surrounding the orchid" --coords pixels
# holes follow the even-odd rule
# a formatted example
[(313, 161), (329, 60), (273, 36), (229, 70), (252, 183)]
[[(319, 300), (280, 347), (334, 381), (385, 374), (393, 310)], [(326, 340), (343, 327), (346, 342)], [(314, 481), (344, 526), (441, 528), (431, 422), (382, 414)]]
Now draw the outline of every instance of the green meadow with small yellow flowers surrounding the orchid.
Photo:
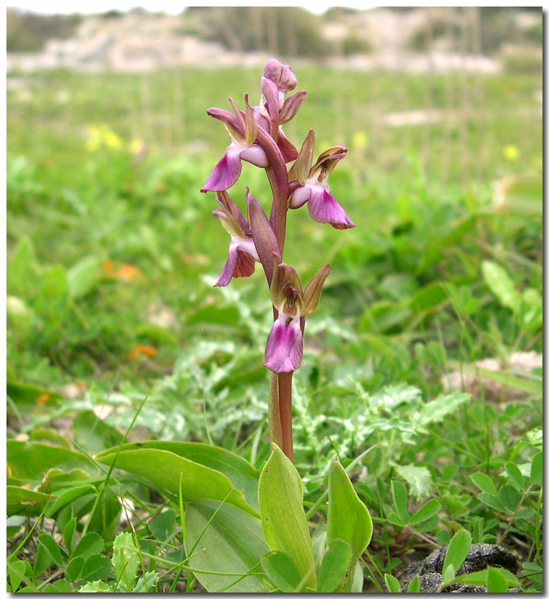
[[(335, 452), (373, 517), (366, 591), (460, 528), (513, 550), (519, 582), (539, 591), (541, 75), (292, 69), (308, 97), (285, 134), (347, 145), (330, 185), (357, 224), (288, 216), (285, 260), (305, 280), (332, 267), (294, 375), (305, 505)], [(258, 469), (268, 458), (270, 298), (261, 267), (213, 288), (228, 239), (200, 193), (228, 143), (205, 111), (244, 92), (256, 104), (261, 71), (8, 77), (14, 591), (115, 579), (113, 541), (130, 530), (119, 495), (149, 555), (145, 587), (196, 585), (175, 566), (176, 495), (92, 458), (128, 429), (128, 441), (208, 443)], [(259, 169), (243, 173), (268, 200)], [(244, 191), (231, 189), (241, 207)]]

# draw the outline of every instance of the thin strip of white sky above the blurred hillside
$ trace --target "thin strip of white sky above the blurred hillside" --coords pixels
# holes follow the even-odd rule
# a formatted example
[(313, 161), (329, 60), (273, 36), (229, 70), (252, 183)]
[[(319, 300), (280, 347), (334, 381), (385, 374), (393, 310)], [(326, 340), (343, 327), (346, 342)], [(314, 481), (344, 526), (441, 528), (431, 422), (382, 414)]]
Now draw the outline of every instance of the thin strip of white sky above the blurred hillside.
[[(212, 3), (211, 5), (220, 6), (222, 4), (223, 3), (217, 2)], [(209, 3), (193, 3), (192, 5), (204, 6), (209, 5)], [(246, 6), (248, 3), (243, 2), (239, 3), (239, 5)], [(257, 5), (257, 2), (250, 3), (249, 5)], [(277, 3), (269, 3), (269, 5), (274, 6), (277, 5)], [(279, 5), (288, 6), (288, 3), (281, 2)], [(330, 8), (330, 6), (333, 6), (334, 3), (309, 1), (300, 3), (299, 5), (316, 14), (322, 14), (325, 12), (325, 10)], [(336, 5), (359, 9), (371, 8), (369, 5), (364, 3), (364, 1), (360, 0), (345, 0), (342, 4), (338, 3)], [(43, 14), (69, 14), (71, 12), (90, 14), (106, 12), (107, 10), (130, 10), (131, 8), (135, 8), (135, 6), (141, 6), (150, 11), (161, 10), (171, 14), (179, 14), (183, 8), (185, 8), (180, 3), (170, 0), (82, 0), (78, 3), (71, 3), (63, 0), (49, 0), (47, 2), (44, 2), (44, 0), (19, 0), (19, 2), (10, 3), (10, 6), (13, 6), (14, 8), (20, 8), (21, 10), (30, 10), (32, 12), (40, 12)]]

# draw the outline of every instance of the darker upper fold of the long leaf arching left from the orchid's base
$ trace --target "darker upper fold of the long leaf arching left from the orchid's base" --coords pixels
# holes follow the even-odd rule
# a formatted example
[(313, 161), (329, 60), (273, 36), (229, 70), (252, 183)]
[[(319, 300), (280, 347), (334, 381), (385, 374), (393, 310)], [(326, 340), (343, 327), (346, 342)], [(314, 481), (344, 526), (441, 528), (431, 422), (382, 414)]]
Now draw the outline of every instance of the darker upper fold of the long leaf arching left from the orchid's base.
[(140, 447), (144, 449), (171, 451), (176, 456), (219, 471), (229, 478), (237, 491), (241, 491), (244, 494), (248, 505), (259, 511), (259, 504), (257, 503), (259, 472), (250, 462), (237, 456), (237, 454), (233, 454), (232, 451), (228, 451), (222, 447), (215, 447), (215, 445), (207, 445), (206, 443), (184, 443), (181, 441), (130, 443), (123, 445), (122, 451), (138, 449)]

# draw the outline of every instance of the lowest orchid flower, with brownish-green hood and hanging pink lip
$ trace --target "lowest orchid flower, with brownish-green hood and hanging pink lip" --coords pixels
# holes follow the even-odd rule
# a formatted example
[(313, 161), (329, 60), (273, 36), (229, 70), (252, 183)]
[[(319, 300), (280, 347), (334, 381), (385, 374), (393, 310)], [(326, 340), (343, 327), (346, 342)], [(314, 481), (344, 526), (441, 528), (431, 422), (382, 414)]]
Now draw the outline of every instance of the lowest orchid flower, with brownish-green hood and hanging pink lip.
[(264, 362), (264, 366), (273, 373), (290, 373), (301, 365), (301, 318), (316, 309), (330, 270), (329, 264), (323, 266), (303, 292), (296, 270), (287, 264), (276, 264), (275, 261), (270, 296), (272, 305), (278, 310), (278, 318), (274, 321), (267, 338)]

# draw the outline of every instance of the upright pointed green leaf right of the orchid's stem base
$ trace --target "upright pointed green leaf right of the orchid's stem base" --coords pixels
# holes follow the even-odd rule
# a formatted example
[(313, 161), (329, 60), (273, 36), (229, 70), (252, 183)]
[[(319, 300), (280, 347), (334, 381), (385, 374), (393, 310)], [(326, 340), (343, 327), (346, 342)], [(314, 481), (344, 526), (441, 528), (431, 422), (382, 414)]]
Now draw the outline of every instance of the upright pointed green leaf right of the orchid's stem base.
[(368, 508), (360, 501), (344, 467), (334, 458), (328, 475), (326, 542), (341, 539), (351, 547), (351, 563), (345, 583), (351, 589), (358, 559), (372, 538), (373, 524)]

